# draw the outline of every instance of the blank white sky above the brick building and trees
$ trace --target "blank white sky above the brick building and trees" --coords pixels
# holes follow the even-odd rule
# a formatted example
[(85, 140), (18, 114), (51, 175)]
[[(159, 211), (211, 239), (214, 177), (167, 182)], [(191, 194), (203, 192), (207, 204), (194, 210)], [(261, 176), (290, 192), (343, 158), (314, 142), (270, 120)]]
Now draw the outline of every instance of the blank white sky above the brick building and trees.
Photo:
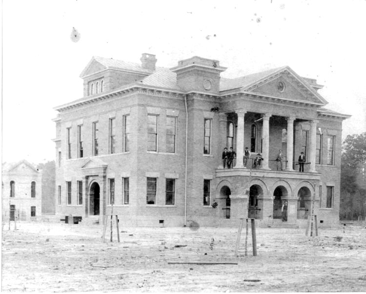
[(343, 137), (366, 131), (365, 0), (3, 0), (2, 9), (3, 161), (55, 159), (52, 108), (82, 97), (93, 55), (140, 63), (146, 52), (165, 67), (199, 55), (228, 78), (289, 65), (325, 85), (325, 107), (352, 115)]

